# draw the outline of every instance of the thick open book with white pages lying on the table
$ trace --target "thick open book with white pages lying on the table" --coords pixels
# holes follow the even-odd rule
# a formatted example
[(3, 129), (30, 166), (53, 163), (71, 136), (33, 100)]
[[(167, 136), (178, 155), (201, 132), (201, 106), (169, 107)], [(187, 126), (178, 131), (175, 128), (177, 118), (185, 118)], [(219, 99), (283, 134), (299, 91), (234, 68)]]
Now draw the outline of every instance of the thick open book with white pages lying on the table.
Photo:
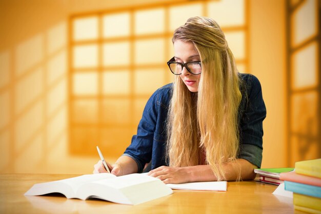
[(85, 174), (75, 178), (33, 185), (26, 196), (62, 193), (68, 199), (98, 198), (119, 204), (136, 205), (173, 193), (159, 179), (145, 174), (116, 177), (110, 173)]

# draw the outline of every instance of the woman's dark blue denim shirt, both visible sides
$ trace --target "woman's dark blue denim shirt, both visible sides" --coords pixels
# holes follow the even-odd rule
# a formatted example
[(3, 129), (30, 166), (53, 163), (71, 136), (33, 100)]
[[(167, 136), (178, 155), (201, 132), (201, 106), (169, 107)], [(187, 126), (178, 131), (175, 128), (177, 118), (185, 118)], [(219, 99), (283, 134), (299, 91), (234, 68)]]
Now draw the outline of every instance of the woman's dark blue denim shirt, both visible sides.
[[(239, 152), (237, 158), (261, 166), (263, 151), (263, 120), (266, 107), (262, 97), (262, 89), (258, 79), (251, 74), (239, 74), (243, 80), (240, 91), (242, 101), (238, 110)], [(151, 169), (168, 166), (166, 162), (166, 119), (172, 84), (157, 89), (148, 100), (137, 134), (132, 137), (131, 144), (123, 155), (134, 159), (141, 172), (146, 163), (151, 161)]]

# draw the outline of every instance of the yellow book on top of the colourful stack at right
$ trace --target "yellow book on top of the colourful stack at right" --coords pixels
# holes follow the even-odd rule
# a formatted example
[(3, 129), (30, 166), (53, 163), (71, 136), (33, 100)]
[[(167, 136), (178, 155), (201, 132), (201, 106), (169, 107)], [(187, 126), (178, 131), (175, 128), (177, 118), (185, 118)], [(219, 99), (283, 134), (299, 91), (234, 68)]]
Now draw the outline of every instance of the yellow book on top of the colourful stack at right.
[(321, 178), (321, 159), (295, 162), (295, 172)]

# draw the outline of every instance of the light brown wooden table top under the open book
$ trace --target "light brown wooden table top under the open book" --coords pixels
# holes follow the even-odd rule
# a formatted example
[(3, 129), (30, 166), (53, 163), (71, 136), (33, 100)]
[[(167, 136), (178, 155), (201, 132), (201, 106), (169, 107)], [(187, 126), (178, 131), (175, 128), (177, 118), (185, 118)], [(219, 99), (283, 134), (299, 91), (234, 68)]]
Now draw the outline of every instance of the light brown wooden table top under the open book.
[(35, 183), (76, 174), (0, 174), (0, 213), (304, 213), (292, 199), (277, 197), (276, 186), (255, 181), (228, 182), (226, 192), (174, 190), (170, 196), (131, 206), (63, 196), (24, 196)]

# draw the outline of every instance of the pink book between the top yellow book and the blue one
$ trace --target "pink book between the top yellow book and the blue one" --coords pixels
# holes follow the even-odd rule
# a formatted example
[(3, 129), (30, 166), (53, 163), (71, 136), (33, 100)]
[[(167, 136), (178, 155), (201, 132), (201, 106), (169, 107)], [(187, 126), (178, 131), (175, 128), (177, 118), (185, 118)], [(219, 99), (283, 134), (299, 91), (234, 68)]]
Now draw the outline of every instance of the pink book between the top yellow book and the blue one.
[(304, 176), (297, 174), (295, 171), (285, 172), (280, 174), (280, 180), (292, 181), (313, 186), (321, 186), (321, 179), (316, 177)]

